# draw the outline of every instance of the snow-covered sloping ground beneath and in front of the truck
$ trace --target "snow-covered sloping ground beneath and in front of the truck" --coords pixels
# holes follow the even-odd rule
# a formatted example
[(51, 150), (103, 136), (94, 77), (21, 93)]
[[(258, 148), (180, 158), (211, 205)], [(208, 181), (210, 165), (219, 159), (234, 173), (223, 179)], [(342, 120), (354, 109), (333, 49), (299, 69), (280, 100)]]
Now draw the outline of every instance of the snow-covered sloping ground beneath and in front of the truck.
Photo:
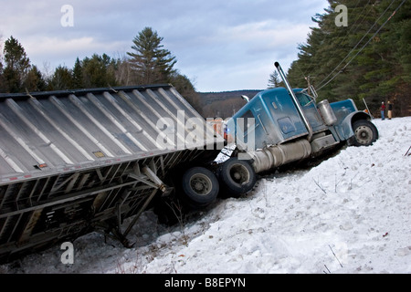
[(73, 264), (57, 245), (0, 273), (411, 273), (411, 117), (374, 124), (373, 146), (265, 177), (186, 223), (145, 212), (133, 248), (92, 233), (72, 243)]

